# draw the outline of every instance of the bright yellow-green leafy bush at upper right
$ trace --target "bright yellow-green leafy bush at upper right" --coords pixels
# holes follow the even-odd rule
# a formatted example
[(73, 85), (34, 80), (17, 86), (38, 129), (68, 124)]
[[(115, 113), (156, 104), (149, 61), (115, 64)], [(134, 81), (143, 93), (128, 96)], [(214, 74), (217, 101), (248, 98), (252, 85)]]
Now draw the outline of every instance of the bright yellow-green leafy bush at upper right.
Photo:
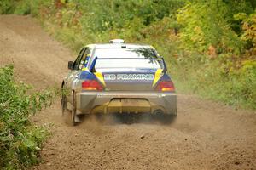
[(222, 1), (188, 3), (181, 8), (177, 21), (183, 26), (180, 33), (183, 43), (189, 49), (195, 48), (201, 52), (213, 46), (218, 54), (240, 54), (242, 42), (225, 19), (228, 10), (229, 6)]

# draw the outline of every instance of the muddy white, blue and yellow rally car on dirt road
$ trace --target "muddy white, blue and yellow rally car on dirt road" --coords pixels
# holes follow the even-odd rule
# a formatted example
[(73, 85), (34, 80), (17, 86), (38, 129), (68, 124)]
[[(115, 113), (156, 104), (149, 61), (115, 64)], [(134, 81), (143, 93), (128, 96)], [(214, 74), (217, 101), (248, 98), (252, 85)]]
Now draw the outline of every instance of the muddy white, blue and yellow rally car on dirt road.
[(125, 43), (90, 44), (64, 78), (62, 113), (71, 112), (73, 125), (80, 114), (177, 115), (177, 95), (166, 63), (149, 45)]

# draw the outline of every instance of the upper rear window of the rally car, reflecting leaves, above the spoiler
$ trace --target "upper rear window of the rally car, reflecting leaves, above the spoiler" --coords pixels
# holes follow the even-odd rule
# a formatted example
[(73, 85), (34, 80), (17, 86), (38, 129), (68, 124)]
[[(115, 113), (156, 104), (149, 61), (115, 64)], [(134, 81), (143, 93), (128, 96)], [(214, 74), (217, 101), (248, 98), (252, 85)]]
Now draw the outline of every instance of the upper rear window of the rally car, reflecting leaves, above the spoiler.
[(97, 58), (157, 58), (151, 48), (97, 48), (94, 56)]

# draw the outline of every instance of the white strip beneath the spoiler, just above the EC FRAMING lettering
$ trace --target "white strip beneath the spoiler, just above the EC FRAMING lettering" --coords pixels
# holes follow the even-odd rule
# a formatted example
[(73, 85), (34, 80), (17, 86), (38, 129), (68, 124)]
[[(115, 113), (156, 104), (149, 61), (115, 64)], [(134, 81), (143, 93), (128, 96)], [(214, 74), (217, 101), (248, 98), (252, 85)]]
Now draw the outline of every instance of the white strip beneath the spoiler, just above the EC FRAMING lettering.
[(95, 69), (160, 69), (157, 59), (97, 59)]

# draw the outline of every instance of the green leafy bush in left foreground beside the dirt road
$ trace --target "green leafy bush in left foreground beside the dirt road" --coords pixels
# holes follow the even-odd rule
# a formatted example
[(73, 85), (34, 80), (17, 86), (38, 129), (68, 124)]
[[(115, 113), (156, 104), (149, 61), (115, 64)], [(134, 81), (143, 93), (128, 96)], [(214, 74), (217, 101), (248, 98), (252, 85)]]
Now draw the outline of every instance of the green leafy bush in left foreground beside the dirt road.
[(0, 68), (0, 168), (25, 169), (38, 162), (38, 151), (49, 134), (29, 117), (51, 105), (55, 91), (28, 93), (31, 87), (14, 80), (13, 65)]

